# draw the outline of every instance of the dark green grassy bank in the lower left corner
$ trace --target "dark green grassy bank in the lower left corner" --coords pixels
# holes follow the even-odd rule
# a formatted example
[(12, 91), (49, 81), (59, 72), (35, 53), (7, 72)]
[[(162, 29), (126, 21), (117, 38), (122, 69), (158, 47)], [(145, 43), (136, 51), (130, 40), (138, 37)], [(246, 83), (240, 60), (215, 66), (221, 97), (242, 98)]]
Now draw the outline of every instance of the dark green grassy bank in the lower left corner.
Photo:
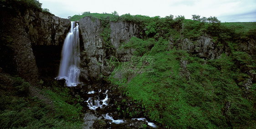
[(77, 99), (69, 95), (67, 87), (60, 88), (54, 83), (38, 93), (50, 97), (52, 104), (32, 97), (29, 87), (19, 77), (0, 74), (1, 129), (82, 128), (82, 108), (74, 103)]

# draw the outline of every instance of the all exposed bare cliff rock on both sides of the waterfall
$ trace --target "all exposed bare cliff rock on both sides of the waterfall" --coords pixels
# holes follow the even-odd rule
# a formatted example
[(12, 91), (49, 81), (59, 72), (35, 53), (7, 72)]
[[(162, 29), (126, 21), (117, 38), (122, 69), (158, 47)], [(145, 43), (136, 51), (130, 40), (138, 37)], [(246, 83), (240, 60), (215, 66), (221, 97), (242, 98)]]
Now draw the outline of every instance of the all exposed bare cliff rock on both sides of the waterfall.
[[(36, 83), (39, 75), (56, 77), (60, 59), (61, 48), (65, 37), (71, 27), (70, 20), (37, 10), (24, 10), (14, 12), (10, 8), (1, 7), (0, 21), (0, 67), (12, 74), (31, 83)], [(178, 30), (181, 30), (179, 27)], [(90, 17), (79, 21), (81, 45), (81, 77), (85, 81), (93, 81), (107, 76), (102, 70), (106, 65), (104, 59), (114, 56), (122, 59), (124, 56), (133, 55), (133, 49), (123, 49), (131, 37), (139, 37), (140, 29), (133, 22), (109, 22), (109, 44), (103, 40), (104, 27), (98, 19)], [(218, 45), (209, 35), (202, 35), (197, 40), (177, 40), (170, 37), (170, 48), (186, 50), (205, 59), (216, 59), (222, 53), (230, 55), (228, 45)], [(240, 44), (240, 50), (250, 55), (255, 55), (256, 41), (250, 40)]]

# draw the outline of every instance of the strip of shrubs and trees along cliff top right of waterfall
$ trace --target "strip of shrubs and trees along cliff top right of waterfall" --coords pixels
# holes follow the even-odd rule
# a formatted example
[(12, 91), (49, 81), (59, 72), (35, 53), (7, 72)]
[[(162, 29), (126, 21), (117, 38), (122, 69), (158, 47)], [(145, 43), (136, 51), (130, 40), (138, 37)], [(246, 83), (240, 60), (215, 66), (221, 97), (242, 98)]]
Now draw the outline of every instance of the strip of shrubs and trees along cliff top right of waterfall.
[[(75, 21), (86, 16), (90, 17), (92, 20), (97, 18), (105, 22), (124, 20), (136, 23), (140, 28), (141, 37), (143, 39), (154, 38), (158, 40), (161, 37), (167, 39), (171, 36), (174, 41), (181, 38), (197, 40), (199, 36), (208, 34), (215, 37), (217, 41), (240, 42), (241, 40), (255, 39), (256, 37), (255, 22), (220, 23), (220, 20), (212, 16), (200, 18), (200, 15), (192, 15), (193, 20), (188, 20), (182, 15), (175, 16), (175, 18), (173, 15), (164, 18), (159, 16), (149, 17), (130, 14), (119, 16), (118, 13), (114, 11), (112, 14), (84, 12), (82, 15), (69, 16), (69, 19)], [(180, 34), (182, 34), (183, 37), (180, 37)]]

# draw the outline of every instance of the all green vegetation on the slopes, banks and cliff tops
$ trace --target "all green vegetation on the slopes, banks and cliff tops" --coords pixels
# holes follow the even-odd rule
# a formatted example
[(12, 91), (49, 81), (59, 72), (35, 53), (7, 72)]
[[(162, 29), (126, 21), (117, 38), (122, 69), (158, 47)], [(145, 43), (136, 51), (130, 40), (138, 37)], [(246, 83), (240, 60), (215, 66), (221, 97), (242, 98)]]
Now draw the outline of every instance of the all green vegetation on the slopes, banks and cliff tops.
[[(2, 5), (9, 9), (49, 12), (41, 9), (38, 0), (0, 0)], [(136, 100), (136, 104), (139, 102), (134, 110), (127, 108), (127, 100), (118, 102), (127, 104), (126, 109), (115, 105), (121, 116), (132, 118), (143, 109), (145, 117), (166, 128), (256, 128), (256, 84), (251, 80), (251, 75), (256, 74), (256, 54), (240, 49), (242, 42), (256, 39), (255, 22), (220, 23), (216, 17), (200, 18), (200, 15), (192, 15), (192, 20), (181, 15), (175, 18), (173, 15), (165, 18), (119, 16), (116, 11), (112, 14), (84, 12), (69, 19), (75, 21), (85, 16), (100, 20), (100, 36), (107, 55), (114, 53), (109, 23), (123, 20), (138, 25), (140, 34), (139, 38), (132, 37), (128, 43), (122, 43), (122, 48), (133, 48), (135, 56), (154, 56), (154, 66), (151, 66), (154, 72), (123, 73), (122, 79), (115, 79), (115, 73), (109, 76), (110, 82)], [(210, 60), (175, 47), (181, 40), (187, 38), (194, 43), (203, 35), (210, 36), (218, 46), (226, 46), (225, 52)], [(13, 39), (3, 36), (1, 40), (10, 43)], [(255, 45), (251, 49), (255, 50)], [(133, 78), (130, 75), (134, 75)], [(19, 77), (0, 73), (0, 128), (81, 128), (80, 99), (70, 95), (70, 89), (57, 83), (39, 89), (41, 95), (52, 101), (45, 104), (29, 94), (30, 87)]]

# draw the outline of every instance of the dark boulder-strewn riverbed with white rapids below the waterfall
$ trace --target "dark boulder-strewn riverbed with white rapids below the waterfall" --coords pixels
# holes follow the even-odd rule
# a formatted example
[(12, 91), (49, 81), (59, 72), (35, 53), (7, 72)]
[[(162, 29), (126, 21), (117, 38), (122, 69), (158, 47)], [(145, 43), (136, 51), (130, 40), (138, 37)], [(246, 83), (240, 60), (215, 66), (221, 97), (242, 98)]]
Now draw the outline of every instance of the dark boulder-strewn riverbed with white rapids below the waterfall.
[(83, 129), (151, 129), (159, 128), (144, 118), (145, 108), (114, 85), (79, 84), (71, 94), (81, 97)]

